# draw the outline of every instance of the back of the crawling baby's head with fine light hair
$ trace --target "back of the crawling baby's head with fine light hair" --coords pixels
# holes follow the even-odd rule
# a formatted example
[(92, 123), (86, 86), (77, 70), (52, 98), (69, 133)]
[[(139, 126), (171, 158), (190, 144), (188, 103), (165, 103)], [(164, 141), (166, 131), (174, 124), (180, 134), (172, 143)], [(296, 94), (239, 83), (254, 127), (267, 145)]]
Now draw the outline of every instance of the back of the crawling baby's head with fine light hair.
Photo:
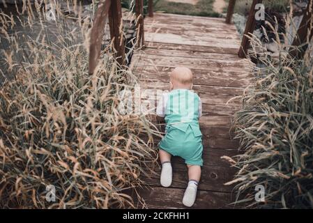
[(177, 67), (169, 75), (169, 89), (192, 89), (192, 72), (189, 68)]

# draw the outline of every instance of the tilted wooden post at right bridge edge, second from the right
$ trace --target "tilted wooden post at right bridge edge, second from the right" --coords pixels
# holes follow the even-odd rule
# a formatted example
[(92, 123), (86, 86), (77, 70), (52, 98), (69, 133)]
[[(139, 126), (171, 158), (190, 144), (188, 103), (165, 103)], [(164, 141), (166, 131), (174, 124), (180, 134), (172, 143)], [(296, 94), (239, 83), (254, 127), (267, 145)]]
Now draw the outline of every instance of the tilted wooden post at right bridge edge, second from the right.
[(255, 6), (258, 3), (262, 3), (262, 0), (253, 0), (252, 6), (250, 8), (249, 17), (247, 18), (247, 23), (245, 24), (245, 32), (243, 33), (243, 39), (241, 40), (241, 47), (238, 52), (238, 56), (244, 58), (247, 55), (247, 48), (249, 47), (249, 38), (247, 37), (249, 33), (253, 33), (255, 27)]

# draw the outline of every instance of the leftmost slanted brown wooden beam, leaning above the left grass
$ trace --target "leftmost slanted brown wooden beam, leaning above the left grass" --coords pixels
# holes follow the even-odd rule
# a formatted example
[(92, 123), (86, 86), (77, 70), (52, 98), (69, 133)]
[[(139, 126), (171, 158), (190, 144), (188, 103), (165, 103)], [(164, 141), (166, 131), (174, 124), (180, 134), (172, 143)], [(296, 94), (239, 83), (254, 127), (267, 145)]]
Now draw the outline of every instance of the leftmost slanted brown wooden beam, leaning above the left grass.
[(89, 47), (89, 74), (95, 70), (101, 52), (102, 38), (105, 34), (105, 24), (107, 22), (107, 15), (111, 6), (111, 0), (102, 0), (99, 3), (93, 27), (91, 28), (91, 38)]

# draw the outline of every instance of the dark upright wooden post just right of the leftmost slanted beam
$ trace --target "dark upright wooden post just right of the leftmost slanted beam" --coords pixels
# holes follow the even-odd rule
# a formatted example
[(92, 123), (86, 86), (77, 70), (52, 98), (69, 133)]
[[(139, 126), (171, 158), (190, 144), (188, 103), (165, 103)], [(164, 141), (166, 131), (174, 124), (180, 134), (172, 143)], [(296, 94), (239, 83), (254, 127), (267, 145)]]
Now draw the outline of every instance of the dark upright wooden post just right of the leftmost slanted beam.
[(112, 1), (109, 10), (109, 32), (115, 49), (116, 61), (123, 65), (125, 61), (125, 43), (122, 29), (121, 0)]

